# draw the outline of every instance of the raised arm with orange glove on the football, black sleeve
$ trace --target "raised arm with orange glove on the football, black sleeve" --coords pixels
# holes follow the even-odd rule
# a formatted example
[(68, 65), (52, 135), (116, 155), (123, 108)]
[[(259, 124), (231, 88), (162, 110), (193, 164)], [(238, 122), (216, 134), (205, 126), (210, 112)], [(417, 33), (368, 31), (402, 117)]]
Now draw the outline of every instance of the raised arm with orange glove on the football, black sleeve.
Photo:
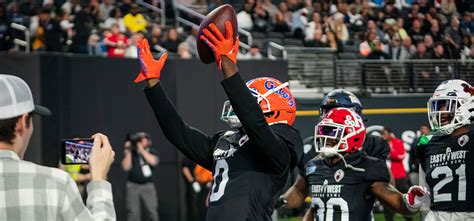
[(232, 25), (228, 21), (225, 37), (214, 24), (210, 24), (204, 30), (205, 36), (200, 38), (215, 53), (218, 68), (224, 73), (224, 90), (245, 132), (256, 146), (255, 151), (270, 164), (269, 168), (273, 173), (281, 174), (289, 167), (289, 146), (286, 140), (270, 129), (262, 109), (238, 73), (236, 63), (239, 40), (237, 38), (234, 41), (232, 32)]

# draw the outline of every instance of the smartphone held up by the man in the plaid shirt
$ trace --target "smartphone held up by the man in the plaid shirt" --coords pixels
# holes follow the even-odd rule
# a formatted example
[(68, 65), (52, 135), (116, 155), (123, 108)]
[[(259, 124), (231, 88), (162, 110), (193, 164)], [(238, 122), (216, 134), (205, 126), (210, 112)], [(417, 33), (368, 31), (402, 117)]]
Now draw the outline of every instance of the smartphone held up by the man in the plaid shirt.
[(61, 146), (62, 164), (88, 164), (94, 139), (65, 139), (62, 140)]

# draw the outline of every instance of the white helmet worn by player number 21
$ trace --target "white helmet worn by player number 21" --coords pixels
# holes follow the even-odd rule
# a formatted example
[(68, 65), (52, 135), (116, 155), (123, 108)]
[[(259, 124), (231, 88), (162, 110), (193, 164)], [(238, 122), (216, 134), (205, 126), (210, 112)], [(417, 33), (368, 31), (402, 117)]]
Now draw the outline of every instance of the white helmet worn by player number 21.
[(448, 135), (471, 123), (472, 92), (472, 86), (463, 80), (447, 80), (436, 88), (428, 101), (428, 119), (434, 134)]

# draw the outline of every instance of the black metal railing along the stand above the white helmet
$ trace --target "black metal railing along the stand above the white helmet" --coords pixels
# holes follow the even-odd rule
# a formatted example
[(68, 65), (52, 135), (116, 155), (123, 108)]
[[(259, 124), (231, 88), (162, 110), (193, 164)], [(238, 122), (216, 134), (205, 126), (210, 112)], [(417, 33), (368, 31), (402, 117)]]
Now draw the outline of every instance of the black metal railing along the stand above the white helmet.
[[(329, 60), (328, 60), (329, 62)], [(444, 80), (474, 80), (474, 60), (334, 60), (334, 88), (367, 93), (432, 93)], [(313, 77), (321, 78), (320, 75)], [(323, 84), (324, 85), (324, 84)]]

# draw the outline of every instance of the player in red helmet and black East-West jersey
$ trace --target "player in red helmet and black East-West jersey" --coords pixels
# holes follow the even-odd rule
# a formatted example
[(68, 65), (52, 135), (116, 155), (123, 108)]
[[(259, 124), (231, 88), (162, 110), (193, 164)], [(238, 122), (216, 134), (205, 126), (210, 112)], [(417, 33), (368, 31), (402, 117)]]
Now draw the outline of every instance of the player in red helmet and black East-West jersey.
[(371, 220), (375, 199), (405, 214), (415, 213), (429, 193), (413, 186), (402, 195), (389, 184), (384, 160), (361, 151), (366, 137), (362, 118), (348, 108), (326, 113), (315, 127), (317, 157), (305, 166), (311, 208), (305, 220)]

